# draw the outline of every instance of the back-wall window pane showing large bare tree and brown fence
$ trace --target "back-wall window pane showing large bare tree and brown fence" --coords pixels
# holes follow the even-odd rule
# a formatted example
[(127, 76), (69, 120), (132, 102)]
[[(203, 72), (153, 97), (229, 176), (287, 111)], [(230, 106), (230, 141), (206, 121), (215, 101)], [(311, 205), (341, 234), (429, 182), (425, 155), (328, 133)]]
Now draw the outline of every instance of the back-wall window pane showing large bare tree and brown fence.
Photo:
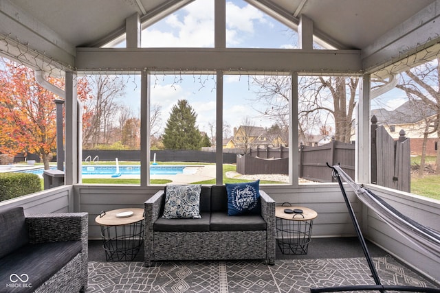
[(300, 76), (300, 183), (333, 182), (327, 163), (342, 165), (354, 178), (358, 83), (358, 77)]

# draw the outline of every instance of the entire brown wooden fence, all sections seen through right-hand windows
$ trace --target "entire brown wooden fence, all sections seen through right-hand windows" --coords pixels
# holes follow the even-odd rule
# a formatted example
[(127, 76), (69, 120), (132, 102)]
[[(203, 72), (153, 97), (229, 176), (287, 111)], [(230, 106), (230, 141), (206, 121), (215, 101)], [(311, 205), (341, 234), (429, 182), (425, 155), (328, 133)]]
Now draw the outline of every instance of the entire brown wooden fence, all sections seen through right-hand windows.
[[(371, 182), (384, 187), (410, 192), (410, 140), (404, 130), (397, 141), (378, 127), (371, 118)], [(237, 155), (236, 169), (240, 174), (289, 174), (289, 148), (256, 148), (250, 154)], [(317, 182), (336, 182), (330, 165), (340, 164), (355, 178), (355, 144), (334, 139), (325, 145), (300, 145), (298, 163), (300, 178)], [(295, 166), (294, 166), (295, 167)], [(368, 168), (370, 166), (361, 166)]]

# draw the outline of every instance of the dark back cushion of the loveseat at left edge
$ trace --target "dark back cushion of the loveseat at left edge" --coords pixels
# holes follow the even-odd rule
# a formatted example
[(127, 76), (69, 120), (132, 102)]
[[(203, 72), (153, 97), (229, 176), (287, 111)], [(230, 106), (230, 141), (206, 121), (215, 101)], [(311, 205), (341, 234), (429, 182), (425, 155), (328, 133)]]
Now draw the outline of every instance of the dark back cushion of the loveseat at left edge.
[(0, 212), (0, 258), (29, 243), (23, 207)]

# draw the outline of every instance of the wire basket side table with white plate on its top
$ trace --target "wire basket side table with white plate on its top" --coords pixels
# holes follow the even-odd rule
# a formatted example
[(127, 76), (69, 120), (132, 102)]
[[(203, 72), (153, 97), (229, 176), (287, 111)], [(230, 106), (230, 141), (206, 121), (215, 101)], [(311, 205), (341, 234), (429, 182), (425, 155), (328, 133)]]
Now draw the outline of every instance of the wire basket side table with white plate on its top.
[(102, 211), (95, 221), (107, 261), (133, 261), (144, 244), (144, 209)]

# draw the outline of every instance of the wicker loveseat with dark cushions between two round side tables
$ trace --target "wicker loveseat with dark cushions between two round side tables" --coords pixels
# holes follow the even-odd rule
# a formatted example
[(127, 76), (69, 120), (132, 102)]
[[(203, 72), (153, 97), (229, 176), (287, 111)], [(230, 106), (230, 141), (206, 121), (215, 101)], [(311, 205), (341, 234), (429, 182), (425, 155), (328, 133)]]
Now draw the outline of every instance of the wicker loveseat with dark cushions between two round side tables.
[(261, 213), (228, 215), (225, 185), (202, 186), (201, 218), (164, 219), (165, 190), (145, 206), (144, 265), (152, 261), (263, 259), (275, 261), (275, 202), (259, 191)]

